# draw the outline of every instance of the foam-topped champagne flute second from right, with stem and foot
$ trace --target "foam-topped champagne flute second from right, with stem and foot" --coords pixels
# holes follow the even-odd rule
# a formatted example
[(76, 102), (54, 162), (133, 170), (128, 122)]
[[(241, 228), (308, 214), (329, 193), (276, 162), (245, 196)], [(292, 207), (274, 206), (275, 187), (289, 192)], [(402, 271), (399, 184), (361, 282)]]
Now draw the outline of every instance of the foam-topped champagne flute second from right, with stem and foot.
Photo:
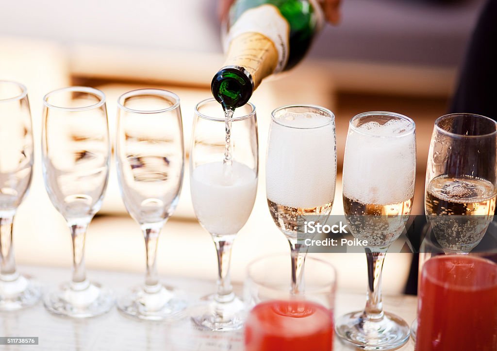
[(392, 350), (409, 340), (408, 324), (383, 311), (381, 272), (388, 247), (406, 229), (414, 197), (414, 121), (392, 112), (350, 120), (343, 161), (343, 209), (353, 236), (366, 240), (368, 292), (363, 311), (336, 321), (336, 333), (364, 350)]

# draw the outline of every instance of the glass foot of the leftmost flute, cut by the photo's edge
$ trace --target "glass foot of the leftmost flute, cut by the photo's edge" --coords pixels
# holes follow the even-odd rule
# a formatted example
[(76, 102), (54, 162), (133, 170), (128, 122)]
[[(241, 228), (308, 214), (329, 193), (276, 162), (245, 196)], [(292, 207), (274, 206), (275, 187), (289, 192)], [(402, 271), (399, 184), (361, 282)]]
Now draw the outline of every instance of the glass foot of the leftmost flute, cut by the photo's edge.
[(34, 305), (41, 297), (40, 285), (28, 276), (0, 279), (0, 311), (15, 311)]

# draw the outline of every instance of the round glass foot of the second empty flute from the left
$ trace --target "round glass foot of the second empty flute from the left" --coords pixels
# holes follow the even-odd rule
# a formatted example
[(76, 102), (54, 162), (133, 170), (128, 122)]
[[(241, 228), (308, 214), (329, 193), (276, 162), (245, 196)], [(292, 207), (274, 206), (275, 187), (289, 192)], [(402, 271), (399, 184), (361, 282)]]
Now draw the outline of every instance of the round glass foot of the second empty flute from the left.
[(98, 283), (82, 282), (86, 288), (75, 290), (72, 283), (64, 283), (59, 290), (52, 291), (45, 296), (45, 308), (54, 314), (88, 318), (108, 312), (114, 306), (114, 294)]

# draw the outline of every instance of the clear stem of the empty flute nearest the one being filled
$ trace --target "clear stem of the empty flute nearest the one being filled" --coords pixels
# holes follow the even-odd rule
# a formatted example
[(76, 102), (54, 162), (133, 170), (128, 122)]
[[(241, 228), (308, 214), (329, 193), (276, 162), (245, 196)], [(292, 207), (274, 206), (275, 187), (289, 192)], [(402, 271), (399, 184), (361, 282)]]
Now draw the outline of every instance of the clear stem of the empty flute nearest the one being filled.
[(164, 222), (147, 223), (142, 225), (143, 236), (145, 238), (145, 250), (147, 253), (147, 273), (145, 276), (145, 292), (156, 293), (161, 289), (159, 274), (157, 273), (157, 244), (159, 234), (164, 226)]

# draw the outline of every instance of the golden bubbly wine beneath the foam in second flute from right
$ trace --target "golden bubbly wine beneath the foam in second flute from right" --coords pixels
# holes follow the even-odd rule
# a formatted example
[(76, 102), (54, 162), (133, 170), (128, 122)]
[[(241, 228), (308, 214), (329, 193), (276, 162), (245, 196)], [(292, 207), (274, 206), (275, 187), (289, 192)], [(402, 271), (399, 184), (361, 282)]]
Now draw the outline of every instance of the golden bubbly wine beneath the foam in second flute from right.
[(343, 195), (343, 210), (355, 238), (370, 247), (388, 247), (403, 232), (413, 198), (394, 204), (365, 204)]

